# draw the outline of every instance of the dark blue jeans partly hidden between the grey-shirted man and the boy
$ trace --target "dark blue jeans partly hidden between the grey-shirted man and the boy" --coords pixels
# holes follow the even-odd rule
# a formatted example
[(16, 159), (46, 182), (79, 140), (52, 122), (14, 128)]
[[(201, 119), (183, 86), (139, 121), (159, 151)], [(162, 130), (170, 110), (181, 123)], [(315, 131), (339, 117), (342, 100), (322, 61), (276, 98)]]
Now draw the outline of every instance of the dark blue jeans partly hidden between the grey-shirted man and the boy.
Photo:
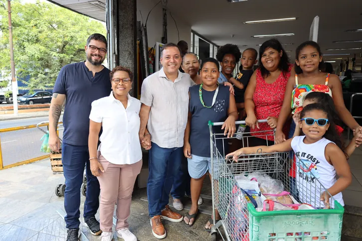
[(174, 185), (172, 186), (171, 196), (174, 199), (181, 199), (185, 193), (191, 196), (191, 177), (187, 170), (187, 158), (182, 153), (181, 168), (179, 174), (174, 177)]

